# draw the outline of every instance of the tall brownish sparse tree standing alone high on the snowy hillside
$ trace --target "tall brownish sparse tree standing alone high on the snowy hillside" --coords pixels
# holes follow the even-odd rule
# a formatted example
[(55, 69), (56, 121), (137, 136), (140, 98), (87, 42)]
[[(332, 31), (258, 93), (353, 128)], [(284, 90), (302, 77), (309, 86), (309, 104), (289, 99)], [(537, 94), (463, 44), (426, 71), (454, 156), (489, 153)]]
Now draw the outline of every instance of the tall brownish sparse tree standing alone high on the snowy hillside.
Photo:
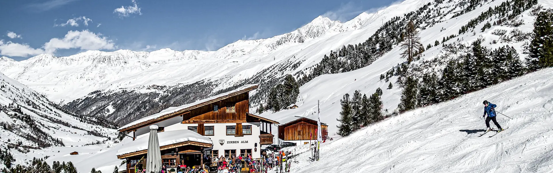
[(413, 62), (415, 56), (422, 53), (421, 50), (424, 51), (424, 47), (420, 43), (419, 31), (413, 21), (409, 21), (405, 28), (405, 38), (401, 42), (401, 49), (403, 49), (401, 58), (406, 58), (408, 63)]

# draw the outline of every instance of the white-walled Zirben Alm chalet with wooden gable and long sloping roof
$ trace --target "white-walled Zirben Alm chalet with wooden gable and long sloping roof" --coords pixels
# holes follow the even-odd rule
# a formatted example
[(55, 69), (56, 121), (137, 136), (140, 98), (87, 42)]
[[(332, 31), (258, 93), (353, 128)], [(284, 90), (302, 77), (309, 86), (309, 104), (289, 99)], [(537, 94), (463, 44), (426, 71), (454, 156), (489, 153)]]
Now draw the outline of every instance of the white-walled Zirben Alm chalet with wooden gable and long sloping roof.
[[(149, 125), (158, 125), (158, 131), (165, 132), (186, 129), (210, 138), (213, 143), (206, 151), (190, 149), (191, 152), (186, 153), (196, 153), (196, 155), (189, 158), (202, 158), (202, 154), (211, 157), (249, 154), (258, 158), (261, 145), (273, 144), (272, 126), (278, 122), (249, 113), (249, 91), (257, 88), (258, 85), (245, 85), (195, 103), (169, 108), (122, 126), (119, 132), (129, 134), (134, 140), (147, 136)], [(205, 149), (206, 146), (203, 147)], [(164, 152), (172, 154), (173, 157), (165, 156), (166, 159), (174, 159), (169, 162), (176, 162), (178, 165), (183, 157), (177, 155), (185, 154), (180, 151), (187, 150), (189, 149), (178, 148), (179, 152), (175, 152), (175, 149), (169, 148), (167, 151), (162, 151), (162, 154)], [(132, 167), (132, 165), (128, 166)]]

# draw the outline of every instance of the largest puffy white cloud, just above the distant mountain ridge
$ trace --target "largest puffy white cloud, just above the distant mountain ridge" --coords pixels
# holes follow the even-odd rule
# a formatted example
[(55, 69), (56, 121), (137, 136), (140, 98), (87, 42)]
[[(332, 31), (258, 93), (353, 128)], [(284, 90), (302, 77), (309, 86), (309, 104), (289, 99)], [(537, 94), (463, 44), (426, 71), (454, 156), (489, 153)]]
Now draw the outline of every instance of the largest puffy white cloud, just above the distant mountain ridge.
[(70, 30), (64, 38), (53, 38), (44, 43), (46, 53), (53, 54), (58, 49), (79, 48), (81, 50), (115, 49), (113, 40), (88, 30)]

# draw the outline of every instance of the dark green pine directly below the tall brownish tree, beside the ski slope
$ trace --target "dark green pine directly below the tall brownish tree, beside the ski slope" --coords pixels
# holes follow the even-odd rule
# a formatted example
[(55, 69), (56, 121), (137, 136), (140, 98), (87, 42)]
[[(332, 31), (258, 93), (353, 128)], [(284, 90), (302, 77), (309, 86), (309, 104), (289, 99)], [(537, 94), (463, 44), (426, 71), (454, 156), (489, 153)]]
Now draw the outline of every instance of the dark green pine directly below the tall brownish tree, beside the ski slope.
[(408, 111), (416, 108), (418, 94), (418, 81), (415, 78), (405, 79), (405, 87), (401, 91), (399, 111)]

